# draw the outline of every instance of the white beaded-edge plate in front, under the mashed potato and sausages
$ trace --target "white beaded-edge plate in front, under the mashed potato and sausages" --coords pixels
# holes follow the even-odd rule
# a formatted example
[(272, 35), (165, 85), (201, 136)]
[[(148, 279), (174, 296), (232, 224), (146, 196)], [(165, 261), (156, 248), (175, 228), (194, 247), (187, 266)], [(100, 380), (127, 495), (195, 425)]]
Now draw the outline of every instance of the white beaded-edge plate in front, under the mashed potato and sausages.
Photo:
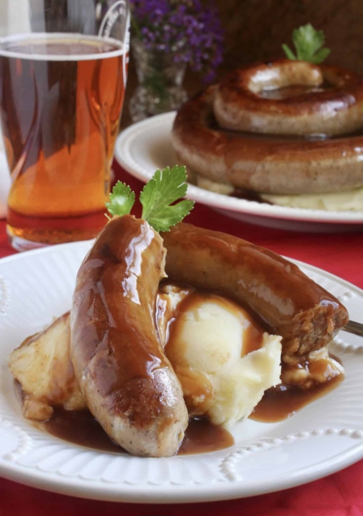
[[(108, 501), (196, 502), (301, 485), (363, 457), (363, 341), (345, 332), (332, 346), (346, 370), (337, 389), (286, 421), (238, 423), (235, 445), (224, 450), (138, 458), (83, 448), (33, 428), (21, 415), (8, 357), (27, 335), (70, 308), (75, 275), (89, 247), (90, 242), (63, 244), (0, 261), (0, 475)], [(327, 272), (298, 265), (359, 320), (363, 291)]]

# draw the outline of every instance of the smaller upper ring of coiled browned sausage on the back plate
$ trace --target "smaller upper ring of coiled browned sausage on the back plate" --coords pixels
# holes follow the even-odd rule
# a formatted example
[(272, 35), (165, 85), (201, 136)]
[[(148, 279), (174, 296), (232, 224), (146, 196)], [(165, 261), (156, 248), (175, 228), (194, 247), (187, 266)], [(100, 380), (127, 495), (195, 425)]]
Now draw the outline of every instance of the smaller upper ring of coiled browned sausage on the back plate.
[(280, 59), (229, 73), (213, 112), (221, 127), (237, 131), (347, 134), (362, 126), (363, 79), (344, 68)]

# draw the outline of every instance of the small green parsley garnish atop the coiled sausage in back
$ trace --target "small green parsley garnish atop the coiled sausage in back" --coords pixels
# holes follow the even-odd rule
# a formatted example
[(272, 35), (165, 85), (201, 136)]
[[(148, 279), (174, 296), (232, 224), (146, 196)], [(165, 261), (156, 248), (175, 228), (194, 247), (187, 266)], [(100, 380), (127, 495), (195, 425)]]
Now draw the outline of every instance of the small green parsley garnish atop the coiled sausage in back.
[(294, 54), (288, 45), (282, 45), (288, 59), (321, 63), (330, 54), (330, 49), (322, 48), (325, 43), (323, 30), (316, 30), (310, 23), (292, 31)]

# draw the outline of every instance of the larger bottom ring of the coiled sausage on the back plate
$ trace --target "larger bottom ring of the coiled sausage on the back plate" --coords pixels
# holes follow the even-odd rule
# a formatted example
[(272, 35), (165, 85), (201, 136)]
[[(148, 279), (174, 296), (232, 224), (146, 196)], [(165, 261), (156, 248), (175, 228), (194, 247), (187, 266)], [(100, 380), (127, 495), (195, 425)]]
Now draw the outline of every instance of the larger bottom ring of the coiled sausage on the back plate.
[(226, 132), (213, 116), (216, 86), (187, 101), (172, 128), (189, 172), (235, 188), (299, 194), (363, 186), (363, 136), (322, 140)]

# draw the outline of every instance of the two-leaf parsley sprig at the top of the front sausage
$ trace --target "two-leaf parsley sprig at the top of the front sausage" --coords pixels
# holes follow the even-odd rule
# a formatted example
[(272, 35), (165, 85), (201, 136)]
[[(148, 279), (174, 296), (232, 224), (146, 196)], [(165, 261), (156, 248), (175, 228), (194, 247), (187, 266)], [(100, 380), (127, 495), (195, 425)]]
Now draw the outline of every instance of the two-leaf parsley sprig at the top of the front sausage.
[[(194, 201), (183, 199), (187, 193), (187, 173), (184, 166), (174, 165), (157, 170), (141, 193), (141, 218), (149, 222), (155, 231), (169, 231), (182, 221), (194, 206)], [(135, 203), (135, 192), (129, 186), (118, 181), (112, 188), (106, 208), (110, 215), (127, 215)], [(106, 215), (110, 218), (108, 215)]]

